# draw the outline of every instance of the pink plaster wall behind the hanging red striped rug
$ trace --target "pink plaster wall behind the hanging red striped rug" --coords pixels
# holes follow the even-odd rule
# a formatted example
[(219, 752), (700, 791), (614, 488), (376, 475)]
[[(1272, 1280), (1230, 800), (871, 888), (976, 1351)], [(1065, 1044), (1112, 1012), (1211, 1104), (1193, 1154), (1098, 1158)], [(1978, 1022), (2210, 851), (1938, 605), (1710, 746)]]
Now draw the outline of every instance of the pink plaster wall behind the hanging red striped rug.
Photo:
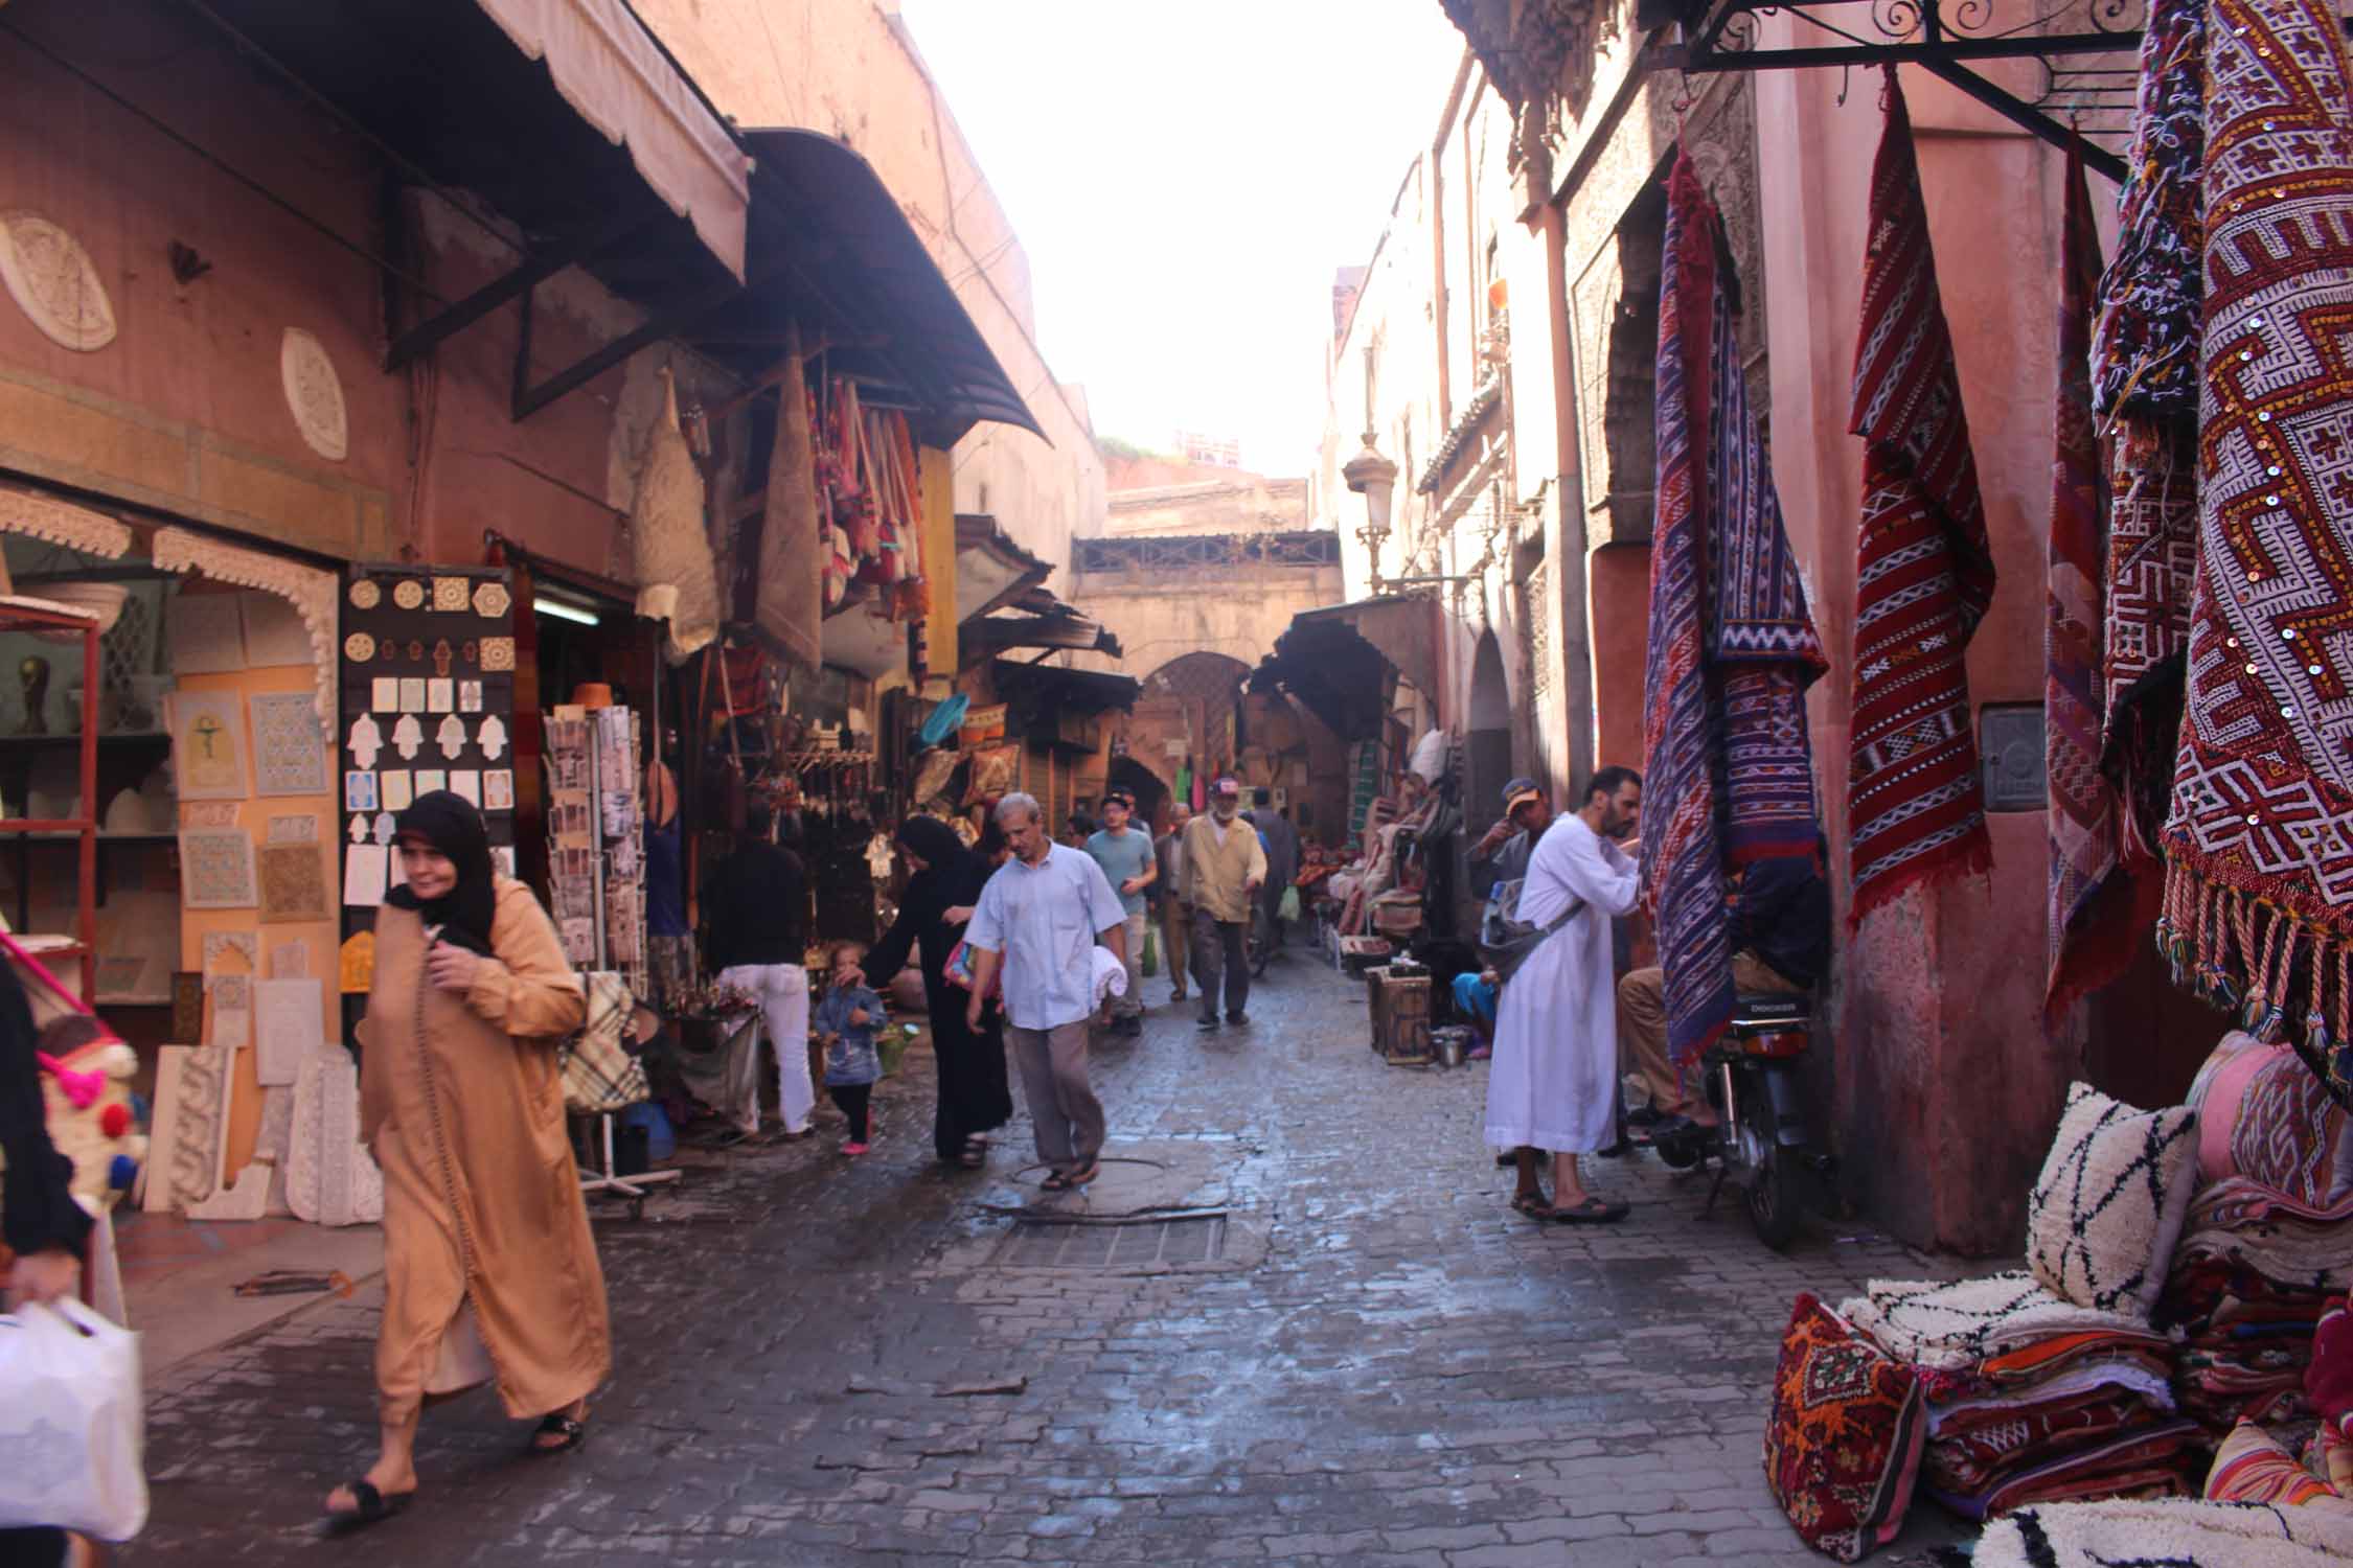
[[(1878, 82), (1838, 106), (1831, 71), (1758, 78), (1760, 197), (1772, 329), (1774, 473), (1814, 592), (1831, 677), (1814, 689), (1814, 755), (1845, 891), (1861, 444), (1847, 435), (1861, 310)], [(2040, 701), (2061, 158), (1932, 78), (1906, 73), (1929, 230), (1953, 327), (1988, 534), (1993, 611), (1969, 646), (1969, 693)], [(2113, 190), (2094, 200), (2113, 205)], [(1849, 1182), (1899, 1234), (2014, 1251), (2073, 1048), (2040, 1025), (2045, 818), (1993, 816), (1991, 879), (1948, 882), (1840, 929), (1835, 1124)]]

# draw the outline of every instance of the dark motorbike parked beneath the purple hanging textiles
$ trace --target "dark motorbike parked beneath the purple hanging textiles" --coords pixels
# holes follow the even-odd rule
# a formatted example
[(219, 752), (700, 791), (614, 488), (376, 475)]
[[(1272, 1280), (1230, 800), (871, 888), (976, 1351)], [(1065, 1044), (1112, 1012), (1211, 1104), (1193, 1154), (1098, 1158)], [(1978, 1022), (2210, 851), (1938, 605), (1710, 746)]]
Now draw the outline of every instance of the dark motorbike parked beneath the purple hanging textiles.
[(1715, 1159), (1708, 1213), (1725, 1182), (1737, 1180), (1748, 1222), (1765, 1246), (1781, 1251), (1798, 1234), (1812, 1180), (1828, 1180), (1835, 1161), (1814, 1147), (1805, 1117), (1802, 1067), (1814, 1044), (1807, 997), (1741, 994), (1732, 1004), (1732, 1027), (1701, 1058), (1708, 1105), (1718, 1124), (1682, 1124), (1659, 1133), (1652, 1147), (1673, 1171)]

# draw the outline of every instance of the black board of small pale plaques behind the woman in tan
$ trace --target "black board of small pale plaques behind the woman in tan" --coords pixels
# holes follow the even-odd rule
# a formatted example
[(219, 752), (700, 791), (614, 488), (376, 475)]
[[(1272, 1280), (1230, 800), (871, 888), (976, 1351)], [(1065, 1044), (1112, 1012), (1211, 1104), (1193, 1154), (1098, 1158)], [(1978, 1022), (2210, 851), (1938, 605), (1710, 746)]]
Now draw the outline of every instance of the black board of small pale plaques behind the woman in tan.
[[(499, 614), (482, 614), (482, 604), (499, 607)], [(409, 571), (358, 567), (344, 583), (341, 630), (346, 646), (334, 726), (344, 748), (339, 766), (346, 778), (369, 776), (367, 804), (344, 802), (344, 813), (336, 818), (341, 849), (329, 846), (344, 865), (341, 933), (351, 957), (360, 952), (351, 947), (351, 938), (374, 931), (376, 905), (400, 886), (398, 856), (379, 832), (384, 813), (405, 811), (419, 795), (447, 788), (459, 776), (473, 776), (480, 792), (485, 769), (515, 766), (506, 743), (515, 717), (513, 585), (496, 567)], [(485, 656), (492, 642), (506, 649), (501, 665), (492, 665)], [(459, 710), (501, 719), (506, 762), (485, 755), (478, 743), (480, 719), (461, 719)], [(513, 853), (513, 790), (496, 802), (485, 799), (482, 818), (492, 849)], [(365, 994), (346, 990), (346, 1039), (362, 1004)], [(301, 1159), (296, 1140), (296, 1192)], [(334, 1185), (332, 1175), (327, 1185)]]

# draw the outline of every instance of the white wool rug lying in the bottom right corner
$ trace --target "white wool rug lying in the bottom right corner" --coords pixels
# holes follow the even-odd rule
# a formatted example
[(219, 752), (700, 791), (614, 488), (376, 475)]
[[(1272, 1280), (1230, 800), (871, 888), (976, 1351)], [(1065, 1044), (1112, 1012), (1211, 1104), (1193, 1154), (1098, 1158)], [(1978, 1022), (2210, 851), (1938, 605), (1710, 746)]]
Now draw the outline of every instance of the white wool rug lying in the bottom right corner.
[(2353, 1502), (2054, 1502), (1986, 1526), (1972, 1568), (2341, 1568)]

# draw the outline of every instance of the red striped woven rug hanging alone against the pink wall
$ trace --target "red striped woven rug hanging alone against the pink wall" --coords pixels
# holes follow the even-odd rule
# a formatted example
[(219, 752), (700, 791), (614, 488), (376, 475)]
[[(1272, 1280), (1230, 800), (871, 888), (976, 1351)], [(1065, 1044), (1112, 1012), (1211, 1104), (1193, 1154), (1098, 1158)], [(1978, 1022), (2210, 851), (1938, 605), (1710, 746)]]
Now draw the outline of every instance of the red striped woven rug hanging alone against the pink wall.
[(1993, 552), (1894, 66), (1885, 106), (1849, 423), (1866, 442), (1847, 757), (1857, 924), (1911, 886), (1993, 867), (1965, 663)]

